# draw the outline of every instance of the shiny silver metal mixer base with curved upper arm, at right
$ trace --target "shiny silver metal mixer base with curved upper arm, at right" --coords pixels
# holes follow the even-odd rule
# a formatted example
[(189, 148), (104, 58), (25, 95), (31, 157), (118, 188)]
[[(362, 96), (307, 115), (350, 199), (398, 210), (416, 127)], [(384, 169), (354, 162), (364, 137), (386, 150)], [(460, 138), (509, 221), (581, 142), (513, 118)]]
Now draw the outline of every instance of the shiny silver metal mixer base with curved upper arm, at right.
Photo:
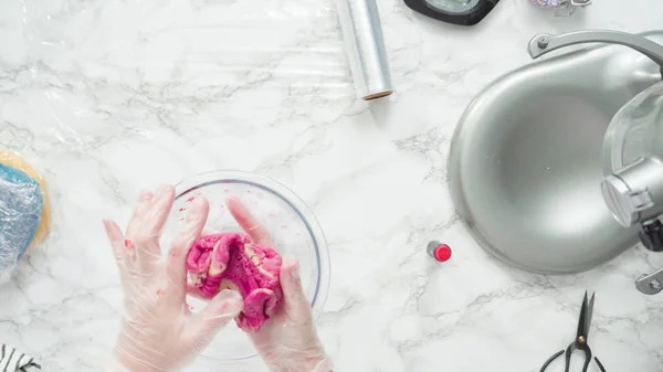
[(450, 189), (477, 243), (512, 266), (569, 274), (600, 265), (634, 246), (601, 194), (603, 136), (614, 114), (661, 82), (663, 32), (633, 35), (582, 31), (535, 36), (537, 59), (486, 87), (454, 134)]

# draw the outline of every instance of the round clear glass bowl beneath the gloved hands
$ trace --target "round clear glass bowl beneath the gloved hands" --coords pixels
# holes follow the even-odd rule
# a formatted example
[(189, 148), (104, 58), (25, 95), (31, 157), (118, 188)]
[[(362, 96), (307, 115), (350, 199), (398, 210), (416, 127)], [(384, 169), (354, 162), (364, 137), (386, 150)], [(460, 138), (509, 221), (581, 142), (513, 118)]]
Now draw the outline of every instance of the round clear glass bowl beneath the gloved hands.
[[(240, 199), (267, 228), (283, 257), (299, 261), (303, 287), (314, 317), (317, 317), (329, 286), (329, 253), (325, 236), (306, 204), (272, 179), (242, 171), (212, 171), (181, 181), (176, 184), (175, 204), (164, 228), (162, 242), (168, 244), (172, 241), (182, 226), (187, 206), (197, 196), (207, 198), (210, 204), (206, 230), (242, 232), (225, 206), (225, 199), (230, 195)], [(193, 312), (207, 305), (193, 297), (187, 298), (187, 301)], [(202, 357), (225, 362), (227, 369), (234, 369), (255, 360), (256, 351), (233, 321), (221, 330)]]

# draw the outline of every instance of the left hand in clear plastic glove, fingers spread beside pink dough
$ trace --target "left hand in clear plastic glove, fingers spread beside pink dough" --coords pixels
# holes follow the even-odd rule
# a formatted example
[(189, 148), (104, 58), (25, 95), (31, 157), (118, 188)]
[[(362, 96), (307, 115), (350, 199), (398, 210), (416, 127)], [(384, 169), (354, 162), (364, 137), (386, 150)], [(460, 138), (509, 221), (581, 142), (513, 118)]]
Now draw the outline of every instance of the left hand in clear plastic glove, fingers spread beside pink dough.
[(172, 187), (155, 195), (141, 192), (126, 237), (115, 222), (104, 221), (125, 291), (116, 365), (112, 366), (116, 371), (178, 370), (242, 310), (242, 297), (230, 290), (218, 294), (199, 313), (189, 310), (185, 261), (202, 232), (209, 203), (197, 198), (164, 263), (159, 237), (173, 200)]

